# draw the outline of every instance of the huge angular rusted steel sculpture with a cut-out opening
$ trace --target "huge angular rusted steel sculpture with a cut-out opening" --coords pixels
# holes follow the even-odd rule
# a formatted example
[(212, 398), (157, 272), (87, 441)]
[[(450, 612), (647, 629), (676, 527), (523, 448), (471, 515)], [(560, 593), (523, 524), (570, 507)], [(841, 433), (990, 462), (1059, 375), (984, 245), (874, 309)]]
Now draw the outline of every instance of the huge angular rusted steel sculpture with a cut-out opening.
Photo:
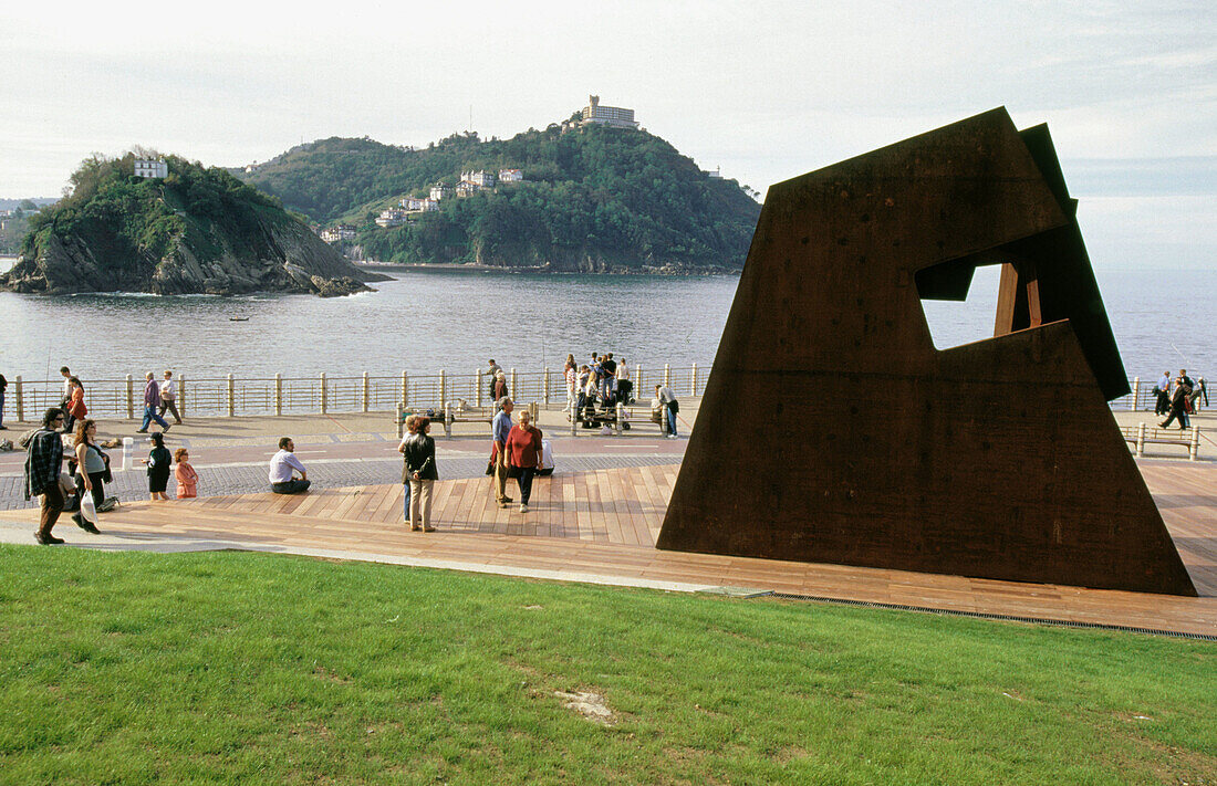
[[(657, 546), (1195, 595), (1075, 208), (1002, 108), (773, 186)], [(982, 264), (994, 338), (935, 349)]]

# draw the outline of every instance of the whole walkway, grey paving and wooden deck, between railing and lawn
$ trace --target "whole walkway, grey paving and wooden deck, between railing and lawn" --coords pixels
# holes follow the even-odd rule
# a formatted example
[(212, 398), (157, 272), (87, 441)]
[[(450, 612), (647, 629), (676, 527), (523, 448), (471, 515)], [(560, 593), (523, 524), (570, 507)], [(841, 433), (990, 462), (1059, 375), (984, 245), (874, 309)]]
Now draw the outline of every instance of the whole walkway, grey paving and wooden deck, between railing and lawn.
[[(683, 403), (682, 428), (696, 417)], [(1155, 420), (1117, 412), (1122, 426)], [(989, 582), (874, 568), (661, 552), (654, 548), (685, 445), (663, 439), (650, 422), (623, 436), (579, 430), (562, 412), (543, 412), (559, 472), (539, 483), (527, 516), (490, 504), (482, 478), (487, 427), (458, 423), (437, 437), (441, 477), (436, 518), (441, 532), (420, 539), (400, 524), (400, 457), (388, 414), (201, 419), (174, 427), (170, 448), (191, 450), (202, 476), (195, 501), (150, 504), (142, 467), (116, 473), (122, 507), (102, 517), (102, 535), (71, 522), (57, 528), (72, 545), (94, 549), (248, 549), (486, 571), (562, 580), (673, 590), (750, 588), (847, 602), (1020, 619), (1103, 624), (1139, 630), (1217, 635), (1217, 416), (1196, 419), (1215, 430), (1201, 439), (1201, 460), (1180, 447), (1152, 445), (1139, 461), (1200, 599)], [(101, 433), (130, 436), (130, 421), (102, 421)], [(6, 432), (18, 436), (19, 430)], [(1204, 432), (1202, 432), (1204, 433)], [(280, 436), (315, 481), (305, 495), (267, 493), (267, 462)], [(136, 454), (146, 455), (146, 444)], [(113, 451), (120, 461), (120, 450)], [(0, 454), (0, 541), (32, 544), (33, 510), (21, 494), (21, 451)], [(138, 466), (138, 465), (136, 465)], [(723, 589), (722, 591), (731, 591)]]

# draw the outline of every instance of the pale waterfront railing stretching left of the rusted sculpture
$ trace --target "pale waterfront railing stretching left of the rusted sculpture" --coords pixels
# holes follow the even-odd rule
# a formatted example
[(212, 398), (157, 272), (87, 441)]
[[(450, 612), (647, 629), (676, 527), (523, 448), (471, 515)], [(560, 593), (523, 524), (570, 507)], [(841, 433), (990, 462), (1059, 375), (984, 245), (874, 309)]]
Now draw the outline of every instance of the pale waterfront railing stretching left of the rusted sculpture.
[[(566, 376), (562, 369), (505, 371), (507, 391), (520, 402), (537, 402), (542, 409), (566, 408)], [(646, 384), (671, 386), (678, 395), (701, 395), (710, 366), (692, 364), (672, 367), (630, 366), (635, 395), (649, 397)], [(183, 417), (284, 415), (312, 412), (383, 412), (403, 408), (442, 409), (445, 402), (464, 400), (469, 406), (490, 402), (490, 377), (484, 369), (462, 374), (393, 376), (225, 377), (190, 378), (178, 374), (176, 406)], [(122, 380), (89, 380), (84, 403), (91, 417), (144, 416), (144, 380), (130, 375)], [(5, 416), (18, 421), (38, 420), (63, 398), (62, 380), (26, 381), (16, 377), (5, 397)]]

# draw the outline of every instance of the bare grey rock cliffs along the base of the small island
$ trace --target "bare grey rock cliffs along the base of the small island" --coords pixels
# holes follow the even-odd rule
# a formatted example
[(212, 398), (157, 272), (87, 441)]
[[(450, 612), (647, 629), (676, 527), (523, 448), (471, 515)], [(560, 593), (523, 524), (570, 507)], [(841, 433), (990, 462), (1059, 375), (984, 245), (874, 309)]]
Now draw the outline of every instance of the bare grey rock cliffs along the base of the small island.
[(336, 297), (385, 280), (359, 270), (296, 220), (258, 220), (243, 231), (213, 224), (206, 236), (184, 231), (163, 256), (124, 242), (90, 223), (61, 237), (49, 234), (37, 254), (23, 254), (0, 290), (41, 294), (151, 292), (240, 294), (299, 292)]

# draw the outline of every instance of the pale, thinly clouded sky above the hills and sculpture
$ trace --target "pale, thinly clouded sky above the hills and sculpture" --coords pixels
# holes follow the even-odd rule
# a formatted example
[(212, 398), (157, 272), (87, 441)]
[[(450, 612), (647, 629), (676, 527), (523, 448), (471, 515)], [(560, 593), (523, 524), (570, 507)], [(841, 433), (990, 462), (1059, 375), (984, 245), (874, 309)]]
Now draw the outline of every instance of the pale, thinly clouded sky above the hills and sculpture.
[(589, 94), (762, 193), (1005, 106), (1048, 123), (1097, 269), (1217, 269), (1211, 1), (6, 4), (0, 197), (135, 145), (506, 137)]

